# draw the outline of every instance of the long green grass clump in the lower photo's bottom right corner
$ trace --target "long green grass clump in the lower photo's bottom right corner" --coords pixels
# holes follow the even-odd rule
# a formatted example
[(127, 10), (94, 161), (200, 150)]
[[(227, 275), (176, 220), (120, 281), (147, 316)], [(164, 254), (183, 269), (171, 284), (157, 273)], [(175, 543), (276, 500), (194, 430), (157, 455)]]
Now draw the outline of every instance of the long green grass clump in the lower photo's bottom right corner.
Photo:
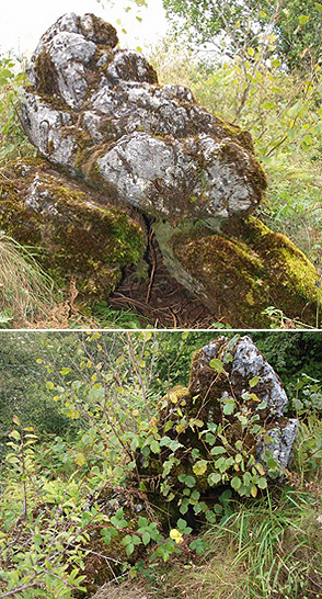
[[(175, 566), (166, 599), (313, 599), (322, 597), (322, 523), (310, 494), (289, 485), (237, 501), (206, 533), (199, 565)], [(158, 596), (159, 597), (159, 596)]]

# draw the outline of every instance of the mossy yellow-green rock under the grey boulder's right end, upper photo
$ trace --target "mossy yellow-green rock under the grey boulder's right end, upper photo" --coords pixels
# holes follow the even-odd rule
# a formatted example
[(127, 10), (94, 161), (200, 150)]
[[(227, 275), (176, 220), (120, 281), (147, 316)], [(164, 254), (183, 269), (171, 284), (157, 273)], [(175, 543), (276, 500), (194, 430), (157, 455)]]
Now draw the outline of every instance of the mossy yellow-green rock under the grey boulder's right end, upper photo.
[(263, 310), (274, 306), (289, 318), (315, 326), (319, 275), (284, 235), (253, 216), (210, 230), (203, 225), (157, 228), (172, 274), (196, 293), (216, 319), (237, 328), (265, 328)]

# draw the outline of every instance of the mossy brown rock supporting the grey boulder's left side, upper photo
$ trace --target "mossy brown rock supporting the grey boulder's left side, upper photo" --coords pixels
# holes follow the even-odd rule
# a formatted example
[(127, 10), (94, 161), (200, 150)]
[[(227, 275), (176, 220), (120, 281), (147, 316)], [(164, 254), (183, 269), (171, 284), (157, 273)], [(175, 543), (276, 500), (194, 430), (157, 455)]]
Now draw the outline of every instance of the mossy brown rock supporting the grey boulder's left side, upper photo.
[(30, 159), (0, 171), (0, 227), (34, 246), (44, 269), (61, 286), (73, 279), (90, 297), (107, 297), (122, 269), (146, 249), (142, 219), (127, 207), (100, 202), (100, 193), (70, 182), (46, 160)]

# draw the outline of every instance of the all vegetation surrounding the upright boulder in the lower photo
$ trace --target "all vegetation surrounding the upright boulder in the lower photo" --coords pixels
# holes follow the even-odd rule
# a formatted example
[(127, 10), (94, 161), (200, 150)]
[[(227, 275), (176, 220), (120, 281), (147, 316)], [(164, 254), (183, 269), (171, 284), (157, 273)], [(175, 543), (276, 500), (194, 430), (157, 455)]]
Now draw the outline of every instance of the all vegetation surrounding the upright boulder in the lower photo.
[[(257, 483), (242, 493), (234, 468), (204, 498), (195, 485), (206, 466), (195, 461), (194, 476), (179, 475), (184, 485), (175, 496), (179, 517), (172, 515), (166, 468), (177, 445), (175, 437), (169, 445), (166, 432), (158, 434), (160, 399), (187, 384), (192, 353), (211, 338), (2, 335), (1, 599), (321, 597), (319, 335), (256, 337), (287, 385), (286, 416), (300, 419), (283, 481), (266, 479), (258, 466)], [(208, 430), (207, 442), (212, 438)], [(136, 467), (141, 455), (152, 475), (164, 451), (160, 493), (170, 495), (160, 504)]]

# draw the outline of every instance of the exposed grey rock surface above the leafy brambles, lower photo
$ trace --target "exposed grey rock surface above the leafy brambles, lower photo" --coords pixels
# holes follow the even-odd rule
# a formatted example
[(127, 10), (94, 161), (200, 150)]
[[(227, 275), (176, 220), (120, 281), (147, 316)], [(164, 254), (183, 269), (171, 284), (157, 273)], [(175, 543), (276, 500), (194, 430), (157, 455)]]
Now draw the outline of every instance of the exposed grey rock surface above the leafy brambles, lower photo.
[[(226, 382), (226, 375), (221, 375), (218, 380), (217, 372), (209, 368), (214, 359), (222, 362), (229, 375), (230, 385)], [(250, 381), (254, 377), (258, 377), (258, 381), (251, 388)], [(189, 393), (207, 398), (207, 421), (219, 421), (218, 399), (233, 394), (242, 405), (243, 394), (252, 392), (261, 403), (265, 402), (267, 405), (266, 409), (258, 410), (258, 415), (261, 423), (272, 439), (267, 444), (263, 439), (258, 439), (256, 456), (261, 460), (263, 452), (268, 450), (283, 468), (287, 467), (297, 436), (298, 420), (283, 417), (287, 406), (287, 395), (283, 383), (252, 339), (248, 336), (237, 336), (229, 340), (222, 336), (195, 354)], [(258, 403), (254, 404), (254, 410), (256, 405)]]

